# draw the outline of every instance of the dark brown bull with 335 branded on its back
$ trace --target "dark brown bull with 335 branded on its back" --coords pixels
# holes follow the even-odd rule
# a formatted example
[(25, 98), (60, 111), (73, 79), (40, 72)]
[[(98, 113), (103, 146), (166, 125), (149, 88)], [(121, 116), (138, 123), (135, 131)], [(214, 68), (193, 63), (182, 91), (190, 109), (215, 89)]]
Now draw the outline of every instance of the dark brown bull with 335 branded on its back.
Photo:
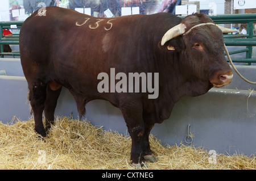
[[(46, 7), (24, 22), (20, 59), (36, 132), (47, 135), (62, 86), (74, 96), (81, 116), (90, 100), (108, 100), (121, 110), (126, 121), (134, 166), (156, 161), (148, 134), (155, 123), (170, 117), (182, 96), (205, 94), (213, 86), (230, 83), (233, 77), (224, 56), (222, 31), (203, 14), (183, 20), (169, 13), (98, 19)], [(102, 84), (102, 89), (119, 83), (121, 91), (99, 91), (103, 77), (98, 75), (111, 77), (113, 69), (122, 76), (118, 79), (116, 75), (109, 85)], [(119, 82), (129, 73), (158, 75), (153, 83), (147, 79), (157, 89), (157, 96), (149, 98), (152, 92), (143, 89), (143, 81), (139, 82), (139, 91)]]

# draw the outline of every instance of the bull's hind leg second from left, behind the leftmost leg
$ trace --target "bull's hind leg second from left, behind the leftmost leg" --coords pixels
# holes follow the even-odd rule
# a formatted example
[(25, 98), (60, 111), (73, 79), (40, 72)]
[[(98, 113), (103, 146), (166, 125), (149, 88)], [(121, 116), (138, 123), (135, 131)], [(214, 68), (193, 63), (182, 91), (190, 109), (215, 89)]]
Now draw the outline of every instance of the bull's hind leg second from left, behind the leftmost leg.
[(49, 133), (51, 124), (54, 124), (54, 112), (57, 106), (57, 99), (61, 92), (61, 86), (50, 81), (46, 88), (46, 102), (44, 103), (44, 115), (46, 116), (46, 133)]

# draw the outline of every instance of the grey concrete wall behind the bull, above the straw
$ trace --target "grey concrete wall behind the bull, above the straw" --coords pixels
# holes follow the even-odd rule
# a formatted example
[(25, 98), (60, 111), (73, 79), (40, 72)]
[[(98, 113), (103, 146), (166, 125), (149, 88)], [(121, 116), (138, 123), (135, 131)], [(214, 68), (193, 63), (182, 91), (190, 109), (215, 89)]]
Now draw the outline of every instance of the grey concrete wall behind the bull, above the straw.
[[(251, 81), (256, 81), (255, 66), (237, 66)], [(27, 82), (19, 60), (0, 59), (0, 120), (10, 123), (13, 116), (27, 120), (30, 107), (27, 101)], [(18, 75), (18, 76), (11, 76)], [(255, 85), (244, 82), (236, 73), (230, 85), (211, 89), (207, 94), (191, 98), (185, 96), (176, 103), (170, 119), (156, 124), (151, 133), (163, 144), (175, 145), (189, 133), (192, 145), (216, 150), (217, 153), (256, 152), (256, 90)], [(76, 103), (67, 89), (61, 91), (56, 107), (56, 116), (78, 117)], [(86, 104), (85, 117), (93, 125), (104, 126), (119, 133), (128, 134), (121, 111), (104, 100), (93, 100)], [(191, 141), (191, 140), (188, 140)]]

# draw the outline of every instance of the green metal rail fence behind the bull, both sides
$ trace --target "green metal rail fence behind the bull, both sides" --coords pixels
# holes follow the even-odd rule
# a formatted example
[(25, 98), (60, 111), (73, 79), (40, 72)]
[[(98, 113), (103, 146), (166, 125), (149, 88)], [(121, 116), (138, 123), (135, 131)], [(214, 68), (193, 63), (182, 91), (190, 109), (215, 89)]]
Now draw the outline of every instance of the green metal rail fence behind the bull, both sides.
[[(229, 54), (237, 54), (246, 52), (245, 58), (232, 58), (234, 62), (243, 62), (251, 65), (256, 62), (256, 58), (252, 58), (253, 46), (256, 46), (256, 36), (253, 35), (253, 23), (256, 22), (256, 14), (232, 14), (232, 15), (216, 15), (209, 16), (217, 24), (232, 24), (232, 23), (247, 23), (247, 35), (224, 35), (224, 42), (226, 46), (244, 46), (246, 48), (241, 50), (235, 50), (229, 52)], [(184, 18), (184, 16), (181, 16)], [(13, 35), (11, 37), (3, 37), (3, 29), (10, 29), (12, 24), (16, 24), (17, 28), (20, 28), (23, 22), (0, 22), (0, 55), (17, 55), (19, 52), (3, 52), (3, 45), (18, 45), (19, 35)], [(228, 60), (227, 60), (228, 61)]]

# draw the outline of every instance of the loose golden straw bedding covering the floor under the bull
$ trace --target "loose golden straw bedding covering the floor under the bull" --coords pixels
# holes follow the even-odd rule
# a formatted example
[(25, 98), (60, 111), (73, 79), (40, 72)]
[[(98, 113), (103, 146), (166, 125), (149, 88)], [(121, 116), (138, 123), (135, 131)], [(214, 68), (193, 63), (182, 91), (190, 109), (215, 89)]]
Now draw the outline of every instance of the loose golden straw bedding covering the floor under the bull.
[[(67, 117), (57, 119), (50, 134), (40, 138), (33, 119), (0, 123), (0, 169), (134, 169), (130, 136)], [(210, 163), (203, 148), (162, 145), (153, 135), (150, 144), (158, 162), (148, 169), (256, 169), (254, 155), (217, 154)]]

